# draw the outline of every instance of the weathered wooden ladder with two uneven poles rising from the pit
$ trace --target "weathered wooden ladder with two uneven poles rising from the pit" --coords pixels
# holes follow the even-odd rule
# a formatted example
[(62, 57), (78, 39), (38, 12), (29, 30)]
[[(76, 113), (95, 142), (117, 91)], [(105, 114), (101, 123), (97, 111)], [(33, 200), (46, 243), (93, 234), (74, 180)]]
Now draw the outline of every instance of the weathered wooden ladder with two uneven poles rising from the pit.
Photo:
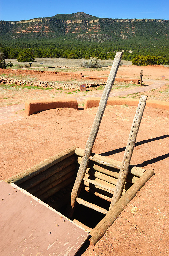
[[(84, 154), (82, 157), (82, 161), (79, 167), (79, 170), (77, 172), (77, 177), (72, 189), (72, 193), (71, 193), (71, 204), (68, 206), (68, 217), (71, 218), (75, 209), (75, 203), (77, 202), (78, 204), (82, 204), (85, 205), (91, 209), (94, 209), (98, 212), (101, 212), (103, 214), (107, 214), (108, 211), (100, 206), (97, 206), (95, 204), (89, 203), (81, 198), (79, 198), (79, 194), (82, 188), (82, 184), (83, 181), (85, 181), (85, 173), (86, 173), (86, 169), (89, 163), (89, 160), (95, 161), (97, 163), (103, 164), (103, 162), (101, 162), (100, 160), (96, 159), (95, 157), (91, 156), (91, 152), (92, 152), (92, 148), (99, 130), (99, 126), (101, 123), (101, 119), (102, 116), (104, 114), (104, 110), (106, 108), (106, 104), (107, 104), (107, 100), (110, 94), (110, 91), (112, 89), (112, 86), (114, 84), (114, 80), (115, 80), (115, 76), (117, 74), (117, 70), (119, 68), (120, 65), (120, 61), (121, 61), (121, 57), (122, 57), (122, 52), (117, 52), (116, 56), (114, 58), (114, 62), (109, 74), (109, 77), (107, 79), (107, 83), (105, 86), (105, 89), (103, 91), (100, 103), (99, 103), (99, 107), (92, 125), (92, 129), (89, 135), (89, 138), (87, 140), (86, 146), (85, 146), (85, 150), (84, 150)], [(137, 111), (136, 111), (136, 115), (134, 117), (133, 120), (133, 124), (131, 127), (131, 131), (129, 134), (129, 139), (127, 142), (127, 146), (125, 149), (125, 153), (124, 153), (124, 157), (123, 157), (123, 161), (121, 164), (121, 168), (119, 171), (119, 175), (118, 175), (118, 179), (117, 179), (117, 184), (115, 186), (114, 191), (114, 195), (112, 197), (112, 201), (110, 204), (110, 208), (109, 211), (113, 208), (114, 204), (120, 199), (120, 197), (122, 196), (122, 191), (124, 188), (124, 184), (128, 175), (128, 170), (129, 170), (129, 164), (130, 164), (130, 160), (131, 160), (131, 156), (133, 153), (133, 149), (135, 146), (135, 142), (136, 142), (136, 137), (137, 137), (137, 133), (139, 130), (139, 126), (141, 123), (141, 119), (143, 116), (143, 111), (145, 108), (145, 104), (146, 104), (146, 100), (147, 100), (147, 96), (141, 96), (138, 107), (137, 107)], [(93, 185), (96, 185), (95, 181), (90, 181), (90, 183), (92, 183)], [(103, 186), (104, 189), (108, 189), (111, 190), (111, 188), (109, 188), (106, 185), (102, 184), (101, 186)], [(101, 187), (100, 186), (100, 187)]]

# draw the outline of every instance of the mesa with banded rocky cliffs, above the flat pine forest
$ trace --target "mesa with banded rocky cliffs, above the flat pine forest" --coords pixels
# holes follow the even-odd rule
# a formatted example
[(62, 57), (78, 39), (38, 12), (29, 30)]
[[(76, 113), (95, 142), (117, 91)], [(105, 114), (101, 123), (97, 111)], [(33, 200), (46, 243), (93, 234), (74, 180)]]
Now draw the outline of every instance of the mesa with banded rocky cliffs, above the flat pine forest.
[(1, 39), (75, 38), (106, 42), (126, 39), (167, 39), (169, 20), (97, 18), (84, 12), (57, 14), (48, 18), (0, 21)]

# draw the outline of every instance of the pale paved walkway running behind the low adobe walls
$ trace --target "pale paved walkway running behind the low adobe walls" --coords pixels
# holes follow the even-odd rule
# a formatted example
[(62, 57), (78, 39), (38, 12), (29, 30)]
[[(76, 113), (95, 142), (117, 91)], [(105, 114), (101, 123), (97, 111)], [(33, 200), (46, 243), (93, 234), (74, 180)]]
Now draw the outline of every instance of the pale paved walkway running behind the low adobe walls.
[[(146, 92), (151, 91), (153, 89), (161, 88), (163, 85), (165, 85), (165, 82), (156, 82), (154, 84), (148, 85), (148, 86), (140, 86), (133, 90), (127, 90), (127, 91), (120, 91), (120, 92), (111, 92), (109, 97), (115, 97), (115, 96), (122, 96), (122, 95), (128, 95), (128, 94), (134, 94), (139, 92)], [(85, 95), (81, 97), (76, 97), (77, 101), (83, 101), (88, 97), (101, 97), (102, 93), (99, 94), (92, 94), (92, 95)], [(75, 98), (74, 97), (74, 98)], [(22, 110), (25, 108), (25, 104), (17, 104), (13, 106), (5, 106), (0, 108), (0, 125), (11, 123), (17, 120), (20, 120), (23, 118), (23, 116), (20, 116), (16, 112), (18, 110)]]

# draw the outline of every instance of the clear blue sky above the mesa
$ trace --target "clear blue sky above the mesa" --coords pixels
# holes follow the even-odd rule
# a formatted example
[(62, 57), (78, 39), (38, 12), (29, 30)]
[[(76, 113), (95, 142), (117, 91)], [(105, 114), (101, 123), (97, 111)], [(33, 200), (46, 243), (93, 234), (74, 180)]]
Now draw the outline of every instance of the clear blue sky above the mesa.
[(28, 20), (59, 13), (85, 12), (101, 18), (169, 20), (168, 0), (0, 0), (0, 20)]

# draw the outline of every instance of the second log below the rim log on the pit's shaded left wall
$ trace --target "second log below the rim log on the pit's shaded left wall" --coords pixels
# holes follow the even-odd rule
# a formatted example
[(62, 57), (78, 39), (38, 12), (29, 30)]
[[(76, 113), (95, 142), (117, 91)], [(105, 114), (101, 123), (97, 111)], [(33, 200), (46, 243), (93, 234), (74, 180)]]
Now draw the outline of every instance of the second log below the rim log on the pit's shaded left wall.
[[(70, 156), (71, 157), (71, 156)], [(67, 160), (67, 159), (66, 159)], [(64, 160), (65, 161), (65, 160)], [(62, 161), (63, 163), (63, 161)], [(68, 164), (68, 163), (67, 163)], [(62, 169), (60, 172), (55, 173), (54, 175), (50, 176), (48, 179), (44, 180), (43, 182), (41, 182), (40, 184), (38, 184), (37, 186), (31, 188), (28, 190), (29, 193), (33, 194), (36, 193), (37, 191), (48, 187), (48, 185), (52, 184), (53, 182), (55, 182), (56, 180), (59, 180), (60, 178), (62, 178), (64, 175), (66, 175), (67, 173), (73, 171), (76, 168), (76, 164), (70, 164), (68, 165), (66, 168)], [(39, 175), (38, 175), (39, 176)], [(37, 176), (37, 177), (38, 177)], [(48, 173), (47, 175), (48, 176)]]

